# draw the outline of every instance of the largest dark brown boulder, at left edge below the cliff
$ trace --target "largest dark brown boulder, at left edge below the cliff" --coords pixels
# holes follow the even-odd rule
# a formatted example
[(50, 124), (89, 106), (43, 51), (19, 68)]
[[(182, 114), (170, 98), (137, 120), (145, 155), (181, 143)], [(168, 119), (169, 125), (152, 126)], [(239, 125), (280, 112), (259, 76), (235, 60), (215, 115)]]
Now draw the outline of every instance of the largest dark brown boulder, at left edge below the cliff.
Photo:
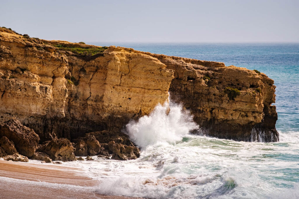
[(23, 126), (19, 120), (12, 118), (0, 127), (0, 137), (5, 136), (13, 141), (21, 155), (33, 156), (39, 143), (39, 136), (30, 128)]

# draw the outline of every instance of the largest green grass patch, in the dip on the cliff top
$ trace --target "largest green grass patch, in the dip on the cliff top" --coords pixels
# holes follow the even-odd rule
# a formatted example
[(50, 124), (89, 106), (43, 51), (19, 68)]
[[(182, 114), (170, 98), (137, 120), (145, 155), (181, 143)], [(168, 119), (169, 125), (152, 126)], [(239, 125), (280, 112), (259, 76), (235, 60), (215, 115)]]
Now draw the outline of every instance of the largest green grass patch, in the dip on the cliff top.
[(61, 44), (54, 45), (55, 47), (59, 48), (59, 50), (65, 50), (65, 51), (71, 51), (72, 53), (75, 53), (77, 55), (96, 55), (98, 53), (103, 53), (104, 50), (108, 49), (108, 47), (98, 47), (98, 48), (80, 48), (80, 47), (65, 47)]

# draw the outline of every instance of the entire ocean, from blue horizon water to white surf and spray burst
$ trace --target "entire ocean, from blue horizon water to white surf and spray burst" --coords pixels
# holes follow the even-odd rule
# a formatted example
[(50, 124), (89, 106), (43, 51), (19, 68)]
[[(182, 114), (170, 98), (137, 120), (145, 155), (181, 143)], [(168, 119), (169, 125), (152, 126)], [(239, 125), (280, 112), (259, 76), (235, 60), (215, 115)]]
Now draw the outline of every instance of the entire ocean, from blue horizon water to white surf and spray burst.
[(126, 125), (136, 160), (67, 162), (99, 181), (100, 194), (144, 198), (299, 198), (299, 44), (116, 45), (259, 70), (276, 85), (276, 143), (237, 142), (188, 132), (192, 115), (170, 102)]

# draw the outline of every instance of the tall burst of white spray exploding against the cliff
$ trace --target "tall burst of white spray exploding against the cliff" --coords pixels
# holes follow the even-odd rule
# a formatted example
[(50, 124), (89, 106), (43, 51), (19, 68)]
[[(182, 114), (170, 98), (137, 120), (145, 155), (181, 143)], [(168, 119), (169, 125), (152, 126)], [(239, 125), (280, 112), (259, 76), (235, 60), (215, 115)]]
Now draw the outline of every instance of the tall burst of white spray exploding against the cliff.
[[(170, 112), (167, 115), (169, 108)], [(131, 140), (142, 148), (161, 142), (176, 144), (184, 135), (198, 128), (190, 112), (172, 102), (165, 102), (163, 106), (158, 104), (148, 116), (145, 115), (138, 121), (131, 121), (126, 125)]]

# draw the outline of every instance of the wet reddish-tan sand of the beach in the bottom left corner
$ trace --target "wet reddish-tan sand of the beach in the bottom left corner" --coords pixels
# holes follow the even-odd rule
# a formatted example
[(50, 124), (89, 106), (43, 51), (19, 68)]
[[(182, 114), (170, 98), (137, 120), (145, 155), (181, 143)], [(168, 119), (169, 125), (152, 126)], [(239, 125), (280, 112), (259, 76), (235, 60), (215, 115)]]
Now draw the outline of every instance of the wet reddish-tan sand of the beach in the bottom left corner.
[(0, 160), (0, 198), (132, 199), (97, 194), (97, 184), (77, 168)]

